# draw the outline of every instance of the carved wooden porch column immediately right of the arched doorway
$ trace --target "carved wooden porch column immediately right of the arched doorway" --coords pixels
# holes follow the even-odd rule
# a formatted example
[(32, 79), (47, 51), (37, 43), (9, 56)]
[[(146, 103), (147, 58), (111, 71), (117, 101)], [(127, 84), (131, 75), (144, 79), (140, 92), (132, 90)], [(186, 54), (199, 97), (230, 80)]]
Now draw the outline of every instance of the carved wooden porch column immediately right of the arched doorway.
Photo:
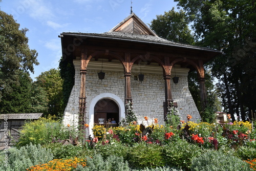
[(132, 102), (132, 93), (131, 93), (131, 68), (132, 68), (132, 62), (131, 62), (131, 54), (125, 53), (124, 54), (124, 77), (125, 77), (125, 94), (124, 94), (124, 102), (125, 104), (129, 101)]

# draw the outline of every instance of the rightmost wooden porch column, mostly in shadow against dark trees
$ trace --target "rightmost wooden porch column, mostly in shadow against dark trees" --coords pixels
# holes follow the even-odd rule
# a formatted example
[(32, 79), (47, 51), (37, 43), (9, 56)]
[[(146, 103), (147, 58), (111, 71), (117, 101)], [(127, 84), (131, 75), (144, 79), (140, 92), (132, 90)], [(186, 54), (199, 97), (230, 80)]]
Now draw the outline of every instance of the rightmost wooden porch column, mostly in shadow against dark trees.
[(206, 89), (205, 89), (205, 78), (204, 78), (204, 66), (203, 61), (199, 60), (199, 89), (200, 89), (200, 98), (201, 98), (201, 108), (202, 111), (205, 111), (205, 107), (207, 104), (207, 98), (206, 98)]

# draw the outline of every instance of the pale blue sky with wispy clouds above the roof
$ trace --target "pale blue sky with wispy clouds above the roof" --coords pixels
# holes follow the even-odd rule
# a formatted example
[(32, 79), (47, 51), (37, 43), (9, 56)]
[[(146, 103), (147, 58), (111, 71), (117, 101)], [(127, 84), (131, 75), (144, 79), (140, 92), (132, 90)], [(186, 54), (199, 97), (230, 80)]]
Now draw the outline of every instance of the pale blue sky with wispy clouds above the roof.
[[(133, 0), (133, 12), (145, 24), (177, 3), (173, 0)], [(27, 28), (30, 49), (38, 52), (39, 66), (34, 79), (42, 72), (58, 68), (62, 32), (104, 33), (130, 15), (130, 0), (2, 0), (0, 9), (14, 16), (20, 28)], [(35, 80), (35, 79), (34, 79)]]

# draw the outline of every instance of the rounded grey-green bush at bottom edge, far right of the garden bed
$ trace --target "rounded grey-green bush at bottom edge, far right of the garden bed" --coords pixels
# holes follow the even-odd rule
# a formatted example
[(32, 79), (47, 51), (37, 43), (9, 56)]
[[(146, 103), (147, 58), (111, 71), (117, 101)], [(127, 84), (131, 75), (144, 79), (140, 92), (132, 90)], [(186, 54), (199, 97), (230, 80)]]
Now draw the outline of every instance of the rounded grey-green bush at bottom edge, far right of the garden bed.
[(251, 170), (249, 164), (238, 157), (222, 151), (208, 151), (192, 160), (191, 170), (195, 171), (233, 171)]

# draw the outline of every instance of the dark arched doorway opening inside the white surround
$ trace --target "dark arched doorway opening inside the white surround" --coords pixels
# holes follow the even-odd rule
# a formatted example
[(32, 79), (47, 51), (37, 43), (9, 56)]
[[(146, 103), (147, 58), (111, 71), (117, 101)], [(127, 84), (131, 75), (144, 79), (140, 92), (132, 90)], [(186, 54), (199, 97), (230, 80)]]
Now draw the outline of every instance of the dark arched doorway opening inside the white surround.
[(101, 99), (94, 106), (94, 123), (106, 123), (109, 118), (119, 123), (118, 105), (111, 99)]

